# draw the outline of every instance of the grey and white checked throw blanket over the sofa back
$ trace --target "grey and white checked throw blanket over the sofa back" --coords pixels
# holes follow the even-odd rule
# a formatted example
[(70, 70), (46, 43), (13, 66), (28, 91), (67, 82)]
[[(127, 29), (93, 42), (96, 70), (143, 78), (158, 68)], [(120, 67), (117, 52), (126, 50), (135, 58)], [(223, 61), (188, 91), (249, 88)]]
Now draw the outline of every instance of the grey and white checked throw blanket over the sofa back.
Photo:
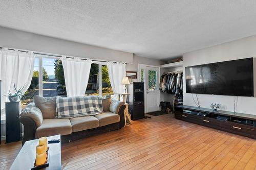
[(103, 113), (102, 101), (99, 96), (77, 96), (56, 99), (58, 118), (72, 118), (78, 116), (92, 116)]

